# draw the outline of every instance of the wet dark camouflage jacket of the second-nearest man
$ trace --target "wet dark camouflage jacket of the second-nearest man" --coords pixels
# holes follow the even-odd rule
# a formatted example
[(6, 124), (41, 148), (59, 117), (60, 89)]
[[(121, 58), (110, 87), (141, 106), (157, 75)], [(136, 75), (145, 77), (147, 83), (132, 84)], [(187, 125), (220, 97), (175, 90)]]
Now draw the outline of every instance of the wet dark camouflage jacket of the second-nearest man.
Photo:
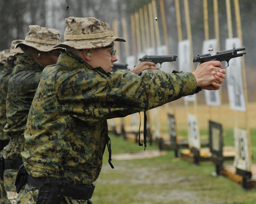
[(30, 105), (34, 98), (44, 66), (32, 57), (21, 54), (8, 83), (6, 99), (7, 124), (4, 132), (11, 136), (4, 148), (4, 159), (21, 159), (24, 150), (24, 130)]

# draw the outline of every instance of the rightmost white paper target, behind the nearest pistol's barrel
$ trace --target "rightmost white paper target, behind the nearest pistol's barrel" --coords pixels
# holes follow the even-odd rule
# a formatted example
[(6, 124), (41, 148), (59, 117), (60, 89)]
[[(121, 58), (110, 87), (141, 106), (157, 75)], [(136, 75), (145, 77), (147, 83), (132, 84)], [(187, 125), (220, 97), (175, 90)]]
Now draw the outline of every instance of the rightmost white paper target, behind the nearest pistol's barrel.
[[(225, 49), (232, 49), (233, 47), (241, 47), (240, 38), (237, 37), (226, 39)], [(226, 70), (229, 106), (232, 110), (246, 111), (241, 57), (230, 59), (229, 67), (227, 67)]]

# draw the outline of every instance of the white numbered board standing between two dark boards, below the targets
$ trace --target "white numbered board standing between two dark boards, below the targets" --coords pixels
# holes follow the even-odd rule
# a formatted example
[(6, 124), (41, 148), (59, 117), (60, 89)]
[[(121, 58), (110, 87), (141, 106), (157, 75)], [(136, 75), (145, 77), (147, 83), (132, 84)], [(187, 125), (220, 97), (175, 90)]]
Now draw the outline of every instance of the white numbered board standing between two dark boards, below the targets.
[(187, 114), (187, 122), (188, 122), (188, 146), (189, 148), (196, 148), (200, 150), (200, 135), (198, 129), (197, 118), (195, 115)]

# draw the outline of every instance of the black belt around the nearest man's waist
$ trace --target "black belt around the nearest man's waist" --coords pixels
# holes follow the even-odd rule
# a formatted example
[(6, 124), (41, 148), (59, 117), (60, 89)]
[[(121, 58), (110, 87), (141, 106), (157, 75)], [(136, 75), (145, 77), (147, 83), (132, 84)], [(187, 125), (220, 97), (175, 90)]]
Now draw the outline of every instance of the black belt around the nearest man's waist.
[[(46, 182), (46, 177), (33, 177), (27, 175), (27, 184), (39, 189)], [(72, 197), (77, 200), (88, 200), (91, 199), (95, 185), (91, 184), (90, 186), (82, 186), (78, 184), (65, 183), (65, 193), (64, 196)]]

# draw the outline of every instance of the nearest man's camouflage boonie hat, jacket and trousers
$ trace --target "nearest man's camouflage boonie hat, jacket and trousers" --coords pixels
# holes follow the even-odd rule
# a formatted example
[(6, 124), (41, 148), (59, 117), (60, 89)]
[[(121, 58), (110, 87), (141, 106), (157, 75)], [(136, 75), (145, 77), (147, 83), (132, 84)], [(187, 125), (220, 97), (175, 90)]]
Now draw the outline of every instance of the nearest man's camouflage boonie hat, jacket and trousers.
[[(66, 24), (65, 42), (57, 46), (91, 49), (115, 40), (125, 41), (95, 18), (69, 17)], [(43, 70), (29, 111), (21, 155), (29, 176), (35, 180), (63, 178), (67, 183), (91, 186), (101, 171), (106, 145), (108, 150), (111, 148), (107, 119), (146, 111), (195, 94), (200, 88), (192, 73), (146, 70), (138, 75), (111, 74), (68, 50), (59, 56), (56, 65)], [(37, 187), (26, 184), (17, 203), (36, 203), (38, 192)], [(64, 196), (61, 201), (90, 202), (72, 196)]]

